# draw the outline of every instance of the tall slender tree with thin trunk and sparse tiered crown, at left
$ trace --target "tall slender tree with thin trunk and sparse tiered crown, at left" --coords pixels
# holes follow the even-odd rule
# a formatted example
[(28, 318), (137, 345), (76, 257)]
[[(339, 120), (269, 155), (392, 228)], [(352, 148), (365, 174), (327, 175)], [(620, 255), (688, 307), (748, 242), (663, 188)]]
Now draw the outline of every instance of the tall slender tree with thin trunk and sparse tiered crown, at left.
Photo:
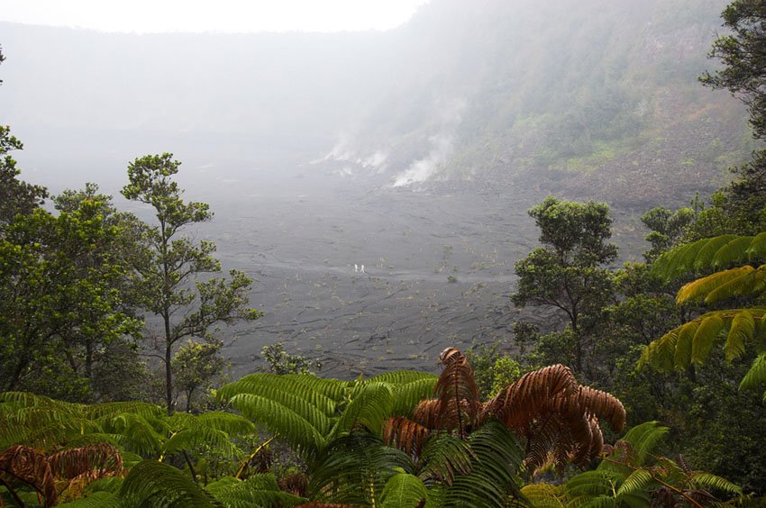
[(163, 343), (160, 353), (165, 362), (165, 402), (173, 408), (173, 346), (179, 340), (196, 337), (211, 340), (215, 323), (255, 320), (260, 313), (248, 308), (247, 292), (251, 279), (231, 270), (230, 281), (222, 278), (202, 280), (200, 274), (221, 271), (212, 254), (211, 241), (195, 244), (181, 230), (189, 224), (209, 221), (213, 214), (204, 203), (185, 203), (182, 190), (172, 177), (180, 162), (172, 154), (135, 159), (128, 166), (129, 184), (123, 195), (149, 204), (157, 224), (141, 231), (144, 259), (135, 265), (141, 277), (141, 307), (160, 316)]

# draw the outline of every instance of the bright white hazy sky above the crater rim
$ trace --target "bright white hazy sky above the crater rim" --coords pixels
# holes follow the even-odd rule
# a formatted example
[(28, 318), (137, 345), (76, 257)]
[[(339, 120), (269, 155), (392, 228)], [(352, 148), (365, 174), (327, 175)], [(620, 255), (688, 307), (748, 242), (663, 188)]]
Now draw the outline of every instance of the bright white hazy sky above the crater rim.
[(105, 32), (387, 30), (428, 0), (0, 0), (0, 21)]

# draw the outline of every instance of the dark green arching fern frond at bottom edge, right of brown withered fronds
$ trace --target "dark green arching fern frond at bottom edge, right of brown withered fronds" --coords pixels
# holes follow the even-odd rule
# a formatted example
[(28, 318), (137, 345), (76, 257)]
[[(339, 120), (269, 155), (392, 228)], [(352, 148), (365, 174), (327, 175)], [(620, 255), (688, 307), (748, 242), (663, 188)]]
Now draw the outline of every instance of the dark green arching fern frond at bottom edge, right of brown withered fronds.
[(136, 504), (141, 506), (223, 507), (191, 478), (156, 460), (144, 460), (133, 467), (125, 477), (119, 497), (137, 500)]

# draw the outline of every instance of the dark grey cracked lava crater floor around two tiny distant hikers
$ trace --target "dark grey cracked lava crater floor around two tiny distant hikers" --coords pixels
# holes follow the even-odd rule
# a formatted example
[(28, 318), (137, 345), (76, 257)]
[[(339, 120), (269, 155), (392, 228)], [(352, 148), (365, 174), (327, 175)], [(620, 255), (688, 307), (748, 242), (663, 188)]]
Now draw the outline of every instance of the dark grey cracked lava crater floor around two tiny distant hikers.
[(544, 191), (387, 184), (310, 167), (189, 187), (215, 212), (196, 234), (217, 243), (225, 268), (253, 278), (251, 304), (265, 313), (220, 331), (233, 376), (263, 368), (261, 348), (277, 341), (320, 359), (323, 376), (437, 372), (447, 346), (500, 341), (510, 349), (518, 319), (561, 322), (551, 309), (517, 310), (509, 300), (515, 261), (537, 245), (526, 210)]

